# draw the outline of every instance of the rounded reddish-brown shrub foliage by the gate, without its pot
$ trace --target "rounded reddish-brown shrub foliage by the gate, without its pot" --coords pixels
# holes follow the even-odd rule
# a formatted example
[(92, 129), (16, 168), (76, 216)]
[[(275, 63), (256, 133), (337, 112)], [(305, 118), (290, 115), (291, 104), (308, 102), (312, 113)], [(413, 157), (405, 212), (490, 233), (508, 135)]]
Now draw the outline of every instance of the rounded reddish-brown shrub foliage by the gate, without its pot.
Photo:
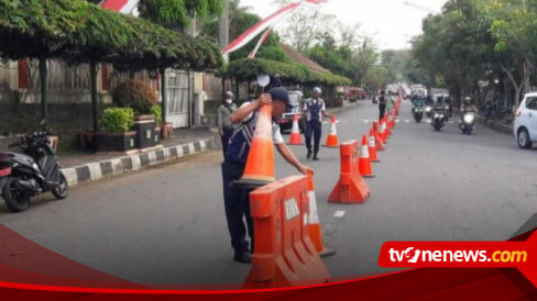
[(117, 107), (132, 108), (134, 114), (150, 114), (151, 107), (158, 101), (158, 97), (145, 82), (129, 79), (113, 90), (112, 101)]

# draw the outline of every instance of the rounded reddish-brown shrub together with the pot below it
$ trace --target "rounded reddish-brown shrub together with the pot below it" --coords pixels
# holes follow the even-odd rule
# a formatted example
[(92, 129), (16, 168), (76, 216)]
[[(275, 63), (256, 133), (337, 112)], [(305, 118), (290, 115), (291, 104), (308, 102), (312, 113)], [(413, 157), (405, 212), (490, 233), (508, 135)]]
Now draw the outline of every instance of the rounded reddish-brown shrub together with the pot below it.
[(141, 80), (129, 79), (113, 90), (112, 101), (119, 108), (133, 110), (136, 147), (155, 146), (158, 141), (155, 135), (155, 115), (152, 113), (152, 107), (158, 101), (155, 90)]

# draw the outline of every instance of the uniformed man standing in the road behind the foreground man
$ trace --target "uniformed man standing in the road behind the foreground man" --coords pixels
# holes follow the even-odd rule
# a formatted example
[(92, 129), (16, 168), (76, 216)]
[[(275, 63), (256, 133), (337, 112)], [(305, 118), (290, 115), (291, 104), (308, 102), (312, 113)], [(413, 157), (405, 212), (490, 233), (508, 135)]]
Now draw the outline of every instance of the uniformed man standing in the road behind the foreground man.
[[(306, 157), (309, 159), (313, 155), (314, 160), (319, 159), (317, 154), (319, 153), (320, 136), (322, 135), (322, 118), (333, 118), (333, 115), (326, 112), (325, 100), (320, 98), (321, 93), (320, 88), (315, 87), (311, 90), (311, 98), (306, 100), (303, 109), (307, 121), (306, 132), (304, 133), (306, 136), (306, 148), (308, 149)], [(314, 137), (314, 149), (311, 149), (311, 136)]]

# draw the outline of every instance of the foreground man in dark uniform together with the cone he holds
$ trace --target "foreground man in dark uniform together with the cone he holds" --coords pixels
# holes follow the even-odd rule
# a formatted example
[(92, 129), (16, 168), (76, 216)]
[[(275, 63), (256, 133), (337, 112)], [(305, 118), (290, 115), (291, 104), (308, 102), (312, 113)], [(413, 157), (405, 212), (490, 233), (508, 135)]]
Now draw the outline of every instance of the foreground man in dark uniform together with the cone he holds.
[[(298, 171), (307, 175), (311, 168), (302, 165), (285, 144), (274, 118), (285, 112), (289, 96), (283, 88), (273, 88), (252, 102), (245, 102), (230, 120), (239, 124), (231, 136), (222, 163), (222, 183), (226, 219), (234, 249), (233, 260), (251, 263), (246, 227), (253, 248), (253, 221), (250, 215), (250, 191), (253, 182), (274, 180), (273, 144), (280, 154)], [(260, 174), (260, 175), (257, 175)], [(245, 182), (246, 186), (237, 185)], [(250, 183), (250, 186), (248, 185)], [(244, 225), (243, 218), (246, 223)]]

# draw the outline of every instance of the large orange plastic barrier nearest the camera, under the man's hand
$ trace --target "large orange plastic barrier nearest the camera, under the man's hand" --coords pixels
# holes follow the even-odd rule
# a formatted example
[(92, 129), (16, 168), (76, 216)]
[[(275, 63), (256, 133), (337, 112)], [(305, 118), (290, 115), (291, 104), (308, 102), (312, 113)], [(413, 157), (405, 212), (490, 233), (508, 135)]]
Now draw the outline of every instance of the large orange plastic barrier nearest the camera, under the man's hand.
[(313, 286), (330, 275), (308, 230), (308, 179), (287, 177), (250, 192), (255, 239), (243, 289)]

